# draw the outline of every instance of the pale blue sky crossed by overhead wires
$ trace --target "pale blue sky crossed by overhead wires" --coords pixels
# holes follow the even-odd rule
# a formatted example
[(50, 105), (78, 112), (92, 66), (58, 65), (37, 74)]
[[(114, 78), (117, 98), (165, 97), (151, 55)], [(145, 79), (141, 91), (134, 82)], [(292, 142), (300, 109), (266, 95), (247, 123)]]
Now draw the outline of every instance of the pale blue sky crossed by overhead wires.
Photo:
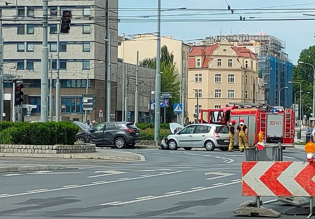
[[(220, 10), (227, 9), (227, 3), (231, 9), (235, 9), (234, 14), (227, 10)], [(119, 34), (125, 33), (128, 37), (128, 35), (138, 33), (156, 33), (157, 22), (155, 20), (157, 17), (154, 15), (157, 15), (157, 7), (158, 0), (119, 0), (119, 18), (121, 21)], [(272, 10), (261, 10), (266, 7)], [(280, 17), (283, 19), (295, 19), (296, 17), (315, 19), (313, 16), (303, 15), (303, 13), (315, 15), (314, 0), (161, 0), (161, 8), (162, 10), (186, 8), (161, 12), (161, 35), (171, 35), (174, 39), (200, 39), (220, 33), (230, 34), (231, 32), (238, 34), (242, 30), (245, 34), (263, 31), (285, 41), (285, 52), (293, 64), (297, 64), (303, 49), (315, 44), (315, 20), (279, 21)], [(259, 10), (244, 10), (253, 8)], [(284, 10), (289, 8), (291, 10)], [(244, 14), (249, 12), (251, 14)], [(222, 15), (222, 13), (224, 14)], [(143, 16), (149, 17), (144, 18)], [(245, 17), (245, 21), (240, 21), (240, 16)], [(163, 22), (165, 19), (172, 21)], [(195, 21), (187, 22), (186, 19)], [(209, 19), (220, 21), (209, 21)], [(277, 19), (278, 21), (257, 21), (258, 19)]]

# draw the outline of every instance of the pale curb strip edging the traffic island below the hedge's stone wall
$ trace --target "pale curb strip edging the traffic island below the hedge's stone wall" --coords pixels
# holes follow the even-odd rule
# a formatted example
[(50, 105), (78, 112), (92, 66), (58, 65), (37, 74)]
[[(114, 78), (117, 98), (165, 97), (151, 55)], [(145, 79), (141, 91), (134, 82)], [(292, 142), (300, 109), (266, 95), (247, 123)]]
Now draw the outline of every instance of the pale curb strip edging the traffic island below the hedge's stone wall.
[(98, 155), (80, 155), (80, 154), (14, 154), (14, 153), (0, 153), (1, 156), (9, 157), (41, 157), (41, 158), (67, 158), (67, 159), (104, 159), (104, 160), (141, 160), (119, 157), (119, 156), (98, 156)]

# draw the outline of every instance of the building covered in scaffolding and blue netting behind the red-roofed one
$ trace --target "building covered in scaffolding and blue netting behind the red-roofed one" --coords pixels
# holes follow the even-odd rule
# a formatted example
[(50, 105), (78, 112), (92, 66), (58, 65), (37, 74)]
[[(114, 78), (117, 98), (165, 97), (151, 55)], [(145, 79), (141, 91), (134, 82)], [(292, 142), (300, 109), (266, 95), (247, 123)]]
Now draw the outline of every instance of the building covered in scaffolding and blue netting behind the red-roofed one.
[[(234, 46), (246, 47), (254, 52), (258, 59), (259, 73), (263, 75), (265, 95), (270, 105), (290, 107), (292, 105), (292, 80), (293, 64), (285, 53), (285, 41), (272, 35), (235, 34), (209, 36), (200, 41), (200, 45), (211, 45), (221, 42), (226, 38)], [(279, 91), (283, 87), (281, 94)]]

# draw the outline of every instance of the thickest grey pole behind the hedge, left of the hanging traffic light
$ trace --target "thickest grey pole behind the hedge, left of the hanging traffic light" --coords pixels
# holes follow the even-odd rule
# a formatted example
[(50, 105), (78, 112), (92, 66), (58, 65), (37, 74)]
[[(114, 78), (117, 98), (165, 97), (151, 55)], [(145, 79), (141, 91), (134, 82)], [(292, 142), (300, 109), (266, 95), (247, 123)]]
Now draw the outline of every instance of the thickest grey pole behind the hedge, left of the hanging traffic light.
[(40, 121), (48, 121), (48, 0), (43, 0), (43, 44), (41, 53)]

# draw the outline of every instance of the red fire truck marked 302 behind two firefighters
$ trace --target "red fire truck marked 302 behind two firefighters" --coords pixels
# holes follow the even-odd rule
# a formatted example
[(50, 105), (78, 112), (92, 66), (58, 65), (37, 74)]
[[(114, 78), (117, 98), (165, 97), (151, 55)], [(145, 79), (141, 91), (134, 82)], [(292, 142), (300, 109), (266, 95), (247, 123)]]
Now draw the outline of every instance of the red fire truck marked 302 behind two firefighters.
[[(232, 106), (230, 106), (232, 105)], [(201, 110), (201, 123), (227, 125), (232, 119), (237, 127), (240, 119), (248, 127), (248, 143), (258, 142), (258, 133), (263, 132), (265, 143), (281, 142), (284, 147), (294, 147), (294, 111), (280, 106), (250, 103), (230, 103), (220, 109)], [(235, 134), (236, 135), (236, 134)], [(238, 138), (235, 136), (235, 144)]]

